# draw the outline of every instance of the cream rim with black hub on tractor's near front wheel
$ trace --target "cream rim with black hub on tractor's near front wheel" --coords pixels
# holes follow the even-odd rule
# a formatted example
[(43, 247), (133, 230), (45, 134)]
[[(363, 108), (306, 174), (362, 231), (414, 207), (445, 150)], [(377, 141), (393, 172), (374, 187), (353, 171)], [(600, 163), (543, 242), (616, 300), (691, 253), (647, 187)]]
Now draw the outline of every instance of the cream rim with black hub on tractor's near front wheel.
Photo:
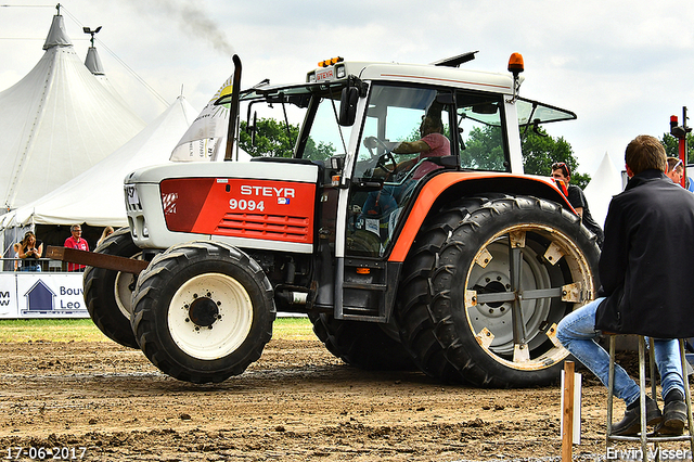
[(235, 351), (253, 324), (253, 304), (244, 286), (221, 273), (192, 278), (176, 291), (168, 328), (187, 355), (215, 360)]

